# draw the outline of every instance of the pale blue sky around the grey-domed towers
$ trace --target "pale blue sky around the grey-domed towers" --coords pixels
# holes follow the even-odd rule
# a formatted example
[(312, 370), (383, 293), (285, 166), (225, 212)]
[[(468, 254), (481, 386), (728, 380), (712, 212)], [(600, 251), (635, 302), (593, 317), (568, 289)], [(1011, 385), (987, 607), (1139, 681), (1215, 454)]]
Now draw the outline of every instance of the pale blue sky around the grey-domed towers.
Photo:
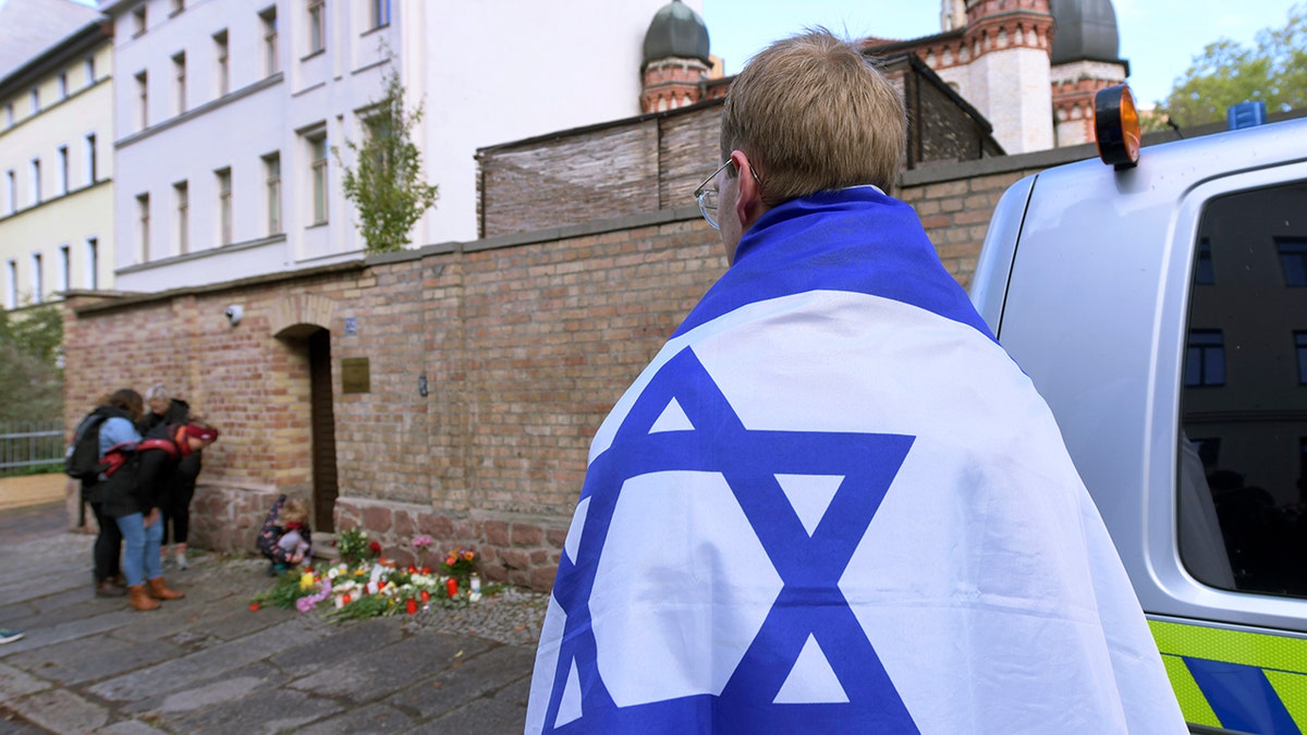
[[(1307, 0), (1298, 0), (1307, 12)], [(938, 0), (701, 0), (710, 52), (736, 75), (767, 43), (822, 25), (850, 38), (910, 39), (940, 33)], [(1120, 58), (1140, 105), (1166, 99), (1202, 48), (1221, 38), (1255, 47), (1283, 27), (1295, 0), (1114, 0)]]

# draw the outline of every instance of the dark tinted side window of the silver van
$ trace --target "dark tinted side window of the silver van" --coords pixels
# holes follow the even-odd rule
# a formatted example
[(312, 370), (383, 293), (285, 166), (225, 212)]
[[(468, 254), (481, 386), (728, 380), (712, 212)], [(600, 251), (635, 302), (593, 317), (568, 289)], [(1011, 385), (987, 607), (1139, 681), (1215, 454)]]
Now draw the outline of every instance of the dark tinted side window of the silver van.
[(1180, 396), (1180, 558), (1307, 596), (1307, 182), (1213, 199), (1195, 242)]

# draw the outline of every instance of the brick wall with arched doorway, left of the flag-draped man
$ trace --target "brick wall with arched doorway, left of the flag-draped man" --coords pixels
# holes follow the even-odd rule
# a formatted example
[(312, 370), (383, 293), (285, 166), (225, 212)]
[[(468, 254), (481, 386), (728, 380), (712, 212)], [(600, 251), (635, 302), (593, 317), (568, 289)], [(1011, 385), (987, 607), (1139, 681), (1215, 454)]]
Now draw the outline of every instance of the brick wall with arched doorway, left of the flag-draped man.
[[(697, 208), (548, 234), (156, 296), (73, 294), (65, 419), (114, 388), (167, 383), (222, 432), (192, 543), (252, 551), (277, 494), (311, 496), (306, 336), (329, 330), (337, 527), (363, 526), (400, 558), (417, 532), (471, 545), (489, 579), (548, 589), (589, 437), (724, 268)], [(235, 327), (231, 303), (244, 309)], [(370, 391), (345, 394), (341, 360), (358, 357)]]

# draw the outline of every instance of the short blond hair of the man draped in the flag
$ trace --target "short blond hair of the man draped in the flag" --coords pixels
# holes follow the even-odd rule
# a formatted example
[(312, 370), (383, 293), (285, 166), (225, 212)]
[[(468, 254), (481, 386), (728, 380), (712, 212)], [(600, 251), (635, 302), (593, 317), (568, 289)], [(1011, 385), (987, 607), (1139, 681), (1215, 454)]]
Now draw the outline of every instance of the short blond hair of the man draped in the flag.
[(863, 52), (823, 27), (778, 41), (727, 92), (721, 160), (742, 150), (775, 207), (818, 191), (889, 192), (907, 140), (903, 101)]

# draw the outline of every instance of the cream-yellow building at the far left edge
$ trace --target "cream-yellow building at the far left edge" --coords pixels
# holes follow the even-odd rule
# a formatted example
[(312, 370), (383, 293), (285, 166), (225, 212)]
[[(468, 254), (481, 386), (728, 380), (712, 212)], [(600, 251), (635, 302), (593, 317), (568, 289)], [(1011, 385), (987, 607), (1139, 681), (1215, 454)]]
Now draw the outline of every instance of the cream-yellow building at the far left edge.
[(0, 78), (0, 307), (112, 288), (111, 90), (94, 20)]

